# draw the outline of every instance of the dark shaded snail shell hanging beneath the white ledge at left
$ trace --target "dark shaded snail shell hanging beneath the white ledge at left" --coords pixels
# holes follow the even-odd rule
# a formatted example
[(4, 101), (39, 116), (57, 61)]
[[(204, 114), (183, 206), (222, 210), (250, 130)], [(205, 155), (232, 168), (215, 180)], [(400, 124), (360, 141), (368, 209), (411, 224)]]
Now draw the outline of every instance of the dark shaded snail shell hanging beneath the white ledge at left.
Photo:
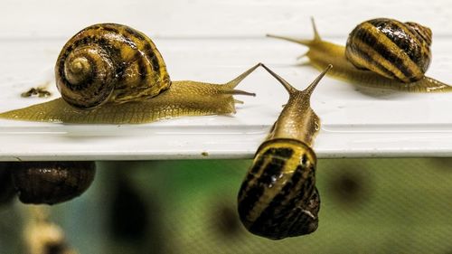
[(24, 203), (54, 204), (84, 193), (94, 180), (94, 162), (10, 163), (14, 188)]

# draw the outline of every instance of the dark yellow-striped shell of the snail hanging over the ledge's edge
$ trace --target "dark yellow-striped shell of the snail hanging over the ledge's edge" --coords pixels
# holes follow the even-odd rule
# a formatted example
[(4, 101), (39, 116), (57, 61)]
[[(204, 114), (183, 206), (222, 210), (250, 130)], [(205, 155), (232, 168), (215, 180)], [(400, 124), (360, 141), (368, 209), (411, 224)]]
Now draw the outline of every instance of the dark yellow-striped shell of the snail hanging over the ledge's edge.
[(305, 143), (284, 138), (264, 142), (240, 187), (243, 225), (273, 240), (316, 230), (320, 197), (315, 164), (315, 153)]

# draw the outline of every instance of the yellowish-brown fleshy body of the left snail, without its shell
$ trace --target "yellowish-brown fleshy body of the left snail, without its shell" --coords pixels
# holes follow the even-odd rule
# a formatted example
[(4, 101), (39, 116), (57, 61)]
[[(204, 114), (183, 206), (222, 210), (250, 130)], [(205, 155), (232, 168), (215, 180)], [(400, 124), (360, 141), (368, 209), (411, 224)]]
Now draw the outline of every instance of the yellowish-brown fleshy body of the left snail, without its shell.
[(238, 100), (231, 95), (239, 80), (215, 85), (193, 81), (173, 81), (170, 89), (153, 99), (127, 103), (106, 103), (92, 110), (73, 108), (63, 99), (19, 108), (0, 114), (0, 118), (77, 124), (141, 124), (183, 116), (205, 116), (235, 113)]

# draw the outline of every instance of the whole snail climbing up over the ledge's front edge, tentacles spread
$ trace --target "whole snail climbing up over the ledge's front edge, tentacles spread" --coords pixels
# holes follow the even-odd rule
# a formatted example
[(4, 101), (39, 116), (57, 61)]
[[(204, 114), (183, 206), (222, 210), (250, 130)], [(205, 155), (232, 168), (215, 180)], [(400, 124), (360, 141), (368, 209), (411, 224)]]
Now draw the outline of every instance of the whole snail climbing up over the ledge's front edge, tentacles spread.
[(315, 188), (312, 144), (320, 119), (310, 107), (310, 97), (332, 66), (304, 90), (262, 66), (287, 89), (289, 99), (241, 183), (238, 211), (251, 233), (280, 240), (309, 234), (318, 226), (320, 196)]

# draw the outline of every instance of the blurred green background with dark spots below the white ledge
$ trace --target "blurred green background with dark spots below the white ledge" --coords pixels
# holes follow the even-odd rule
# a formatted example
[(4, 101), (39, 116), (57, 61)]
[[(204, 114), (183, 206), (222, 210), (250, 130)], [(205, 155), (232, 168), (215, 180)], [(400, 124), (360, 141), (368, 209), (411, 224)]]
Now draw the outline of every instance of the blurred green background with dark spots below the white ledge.
[[(99, 162), (88, 192), (52, 206), (80, 253), (452, 253), (452, 159), (323, 159), (319, 228), (251, 235), (236, 196), (250, 160)], [(0, 253), (24, 253), (25, 206), (0, 207)]]

